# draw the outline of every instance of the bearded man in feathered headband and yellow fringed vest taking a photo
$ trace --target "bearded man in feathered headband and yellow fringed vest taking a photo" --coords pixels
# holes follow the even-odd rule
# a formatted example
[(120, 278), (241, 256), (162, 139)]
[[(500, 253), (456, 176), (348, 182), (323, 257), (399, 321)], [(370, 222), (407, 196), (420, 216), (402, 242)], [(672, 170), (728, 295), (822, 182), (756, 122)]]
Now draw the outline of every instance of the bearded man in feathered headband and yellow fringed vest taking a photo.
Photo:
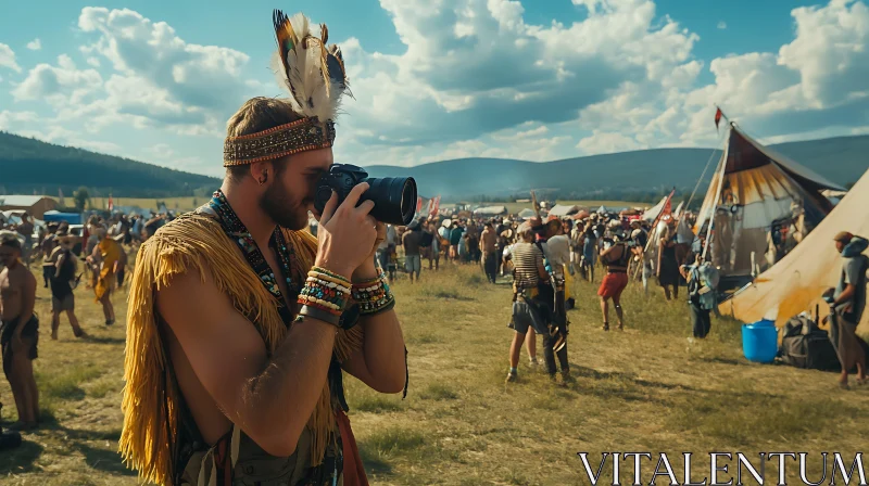
[[(274, 15), (289, 100), (249, 100), (227, 124), (212, 201), (142, 244), (130, 281), (121, 452), (166, 485), (366, 485), (342, 372), (406, 389), (406, 350), (356, 207), (366, 183), (307, 228), (332, 164), (347, 89), (326, 26)], [(297, 297), (298, 296), (298, 297)]]

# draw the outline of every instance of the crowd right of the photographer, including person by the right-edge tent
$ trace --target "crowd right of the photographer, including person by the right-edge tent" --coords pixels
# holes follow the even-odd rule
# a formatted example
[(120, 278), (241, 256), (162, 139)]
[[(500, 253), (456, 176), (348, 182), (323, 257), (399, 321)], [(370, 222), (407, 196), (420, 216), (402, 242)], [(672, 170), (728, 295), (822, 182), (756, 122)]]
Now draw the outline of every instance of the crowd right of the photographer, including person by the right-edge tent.
[[(400, 268), (400, 256), (403, 256), (404, 270), (411, 276), (411, 282), (419, 281), (423, 259), (428, 260), (428, 269), (433, 271), (444, 259), (459, 265), (479, 265), (491, 283), (498, 282), (499, 278), (512, 279), (514, 296), (509, 327), (515, 333), (509, 347), (507, 381), (518, 378), (524, 344), (527, 344), (530, 363), (538, 364), (536, 336), (540, 334), (546, 371), (553, 382), (564, 385), (571, 381), (566, 340), (567, 310), (576, 302), (570, 295), (570, 280), (575, 276), (596, 282), (595, 272), (604, 272), (597, 291), (603, 318), (601, 329), (604, 331), (610, 330), (610, 302), (615, 329), (625, 329), (621, 294), (631, 281), (637, 281), (642, 283), (646, 295), (650, 283), (654, 282), (662, 289), (666, 300), (678, 302), (680, 289), (685, 291), (688, 295), (683, 299), (688, 302), (692, 322), (691, 338), (708, 336), (711, 315), (718, 312), (720, 272), (711, 265), (711, 252), (704, 252), (704, 235), (695, 235), (693, 226), (694, 215), (691, 213), (678, 217), (664, 215), (655, 222), (619, 214), (590, 214), (578, 219), (550, 216), (545, 220), (539, 217), (522, 220), (518, 216), (429, 216), (414, 220), (407, 227), (389, 227), (387, 239), (378, 248), (378, 259), (382, 268), (388, 269), (391, 280), (395, 279)], [(855, 238), (852, 248), (866, 241)], [(843, 278), (856, 281), (862, 276), (862, 283), (849, 287), (843, 280), (835, 296), (844, 295), (842, 299), (846, 302), (856, 300), (861, 309), (865, 305), (865, 272), (853, 269), (858, 265), (856, 261), (848, 260), (846, 266), (851, 270), (843, 272)], [(858, 383), (864, 383), (866, 358), (862, 351), (866, 346), (854, 333), (859, 317), (855, 320), (855, 312), (849, 312), (843, 315), (841, 309), (833, 312), (833, 316), (839, 316), (839, 322), (831, 324), (836, 325), (831, 340), (844, 340), (835, 342), (834, 346), (845, 351), (843, 362), (849, 362), (849, 369), (858, 367)], [(844, 331), (840, 331), (843, 325)], [(558, 367), (561, 381), (556, 380)], [(847, 373), (842, 376), (841, 383), (845, 387)]]

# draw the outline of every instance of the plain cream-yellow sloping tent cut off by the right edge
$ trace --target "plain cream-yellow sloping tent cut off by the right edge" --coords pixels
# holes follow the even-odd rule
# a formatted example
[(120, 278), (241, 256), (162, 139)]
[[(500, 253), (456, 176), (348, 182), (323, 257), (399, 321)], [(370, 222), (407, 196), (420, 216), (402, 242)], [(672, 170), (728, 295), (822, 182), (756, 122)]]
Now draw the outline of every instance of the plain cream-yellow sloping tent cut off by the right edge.
[[(719, 310), (742, 322), (768, 318), (779, 325), (804, 310), (814, 315), (816, 305), (820, 306), (821, 316), (826, 315), (828, 306), (820, 297), (839, 283), (843, 261), (833, 236), (840, 231), (849, 231), (869, 238), (866, 207), (869, 207), (869, 171), (799, 245), (721, 304)], [(869, 331), (867, 327), (869, 311), (864, 312), (861, 334)]]

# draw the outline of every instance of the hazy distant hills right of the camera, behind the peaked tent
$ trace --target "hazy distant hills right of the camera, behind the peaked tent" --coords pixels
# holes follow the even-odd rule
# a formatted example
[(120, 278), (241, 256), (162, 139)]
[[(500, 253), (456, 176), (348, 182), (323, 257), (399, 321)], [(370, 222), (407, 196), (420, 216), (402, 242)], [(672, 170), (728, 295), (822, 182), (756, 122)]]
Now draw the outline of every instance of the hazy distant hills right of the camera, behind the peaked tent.
[[(842, 186), (856, 182), (869, 168), (869, 136), (791, 142), (770, 148)], [(710, 155), (714, 157), (704, 178), (706, 182), (701, 186), (703, 190), (720, 151), (653, 149), (546, 163), (462, 158), (416, 167), (371, 166), (367, 169), (373, 177), (413, 176), (420, 194), (441, 194), (448, 199), (527, 197), (528, 191), (534, 189), (563, 200), (651, 202), (672, 188), (690, 193)]]

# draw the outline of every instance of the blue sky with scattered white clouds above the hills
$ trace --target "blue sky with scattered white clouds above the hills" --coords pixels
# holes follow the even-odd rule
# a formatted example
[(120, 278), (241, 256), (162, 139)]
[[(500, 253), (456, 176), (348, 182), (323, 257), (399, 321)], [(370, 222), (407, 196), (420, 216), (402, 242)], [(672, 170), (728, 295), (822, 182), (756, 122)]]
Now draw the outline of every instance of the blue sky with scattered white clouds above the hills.
[[(4, 9), (0, 129), (219, 175), (226, 119), (247, 98), (281, 94), (270, 12), (298, 4)], [(339, 162), (711, 146), (715, 103), (766, 142), (869, 132), (865, 0), (304, 5), (342, 46), (355, 95)]]

